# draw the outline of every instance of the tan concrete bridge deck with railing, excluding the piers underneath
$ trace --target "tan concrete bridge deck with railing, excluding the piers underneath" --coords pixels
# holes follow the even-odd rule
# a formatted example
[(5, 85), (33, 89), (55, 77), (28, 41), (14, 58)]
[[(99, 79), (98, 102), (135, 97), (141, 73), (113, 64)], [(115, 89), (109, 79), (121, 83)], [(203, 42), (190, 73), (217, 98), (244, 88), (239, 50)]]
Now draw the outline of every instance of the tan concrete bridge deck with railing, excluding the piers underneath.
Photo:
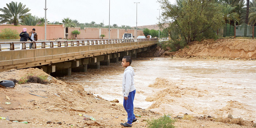
[[(76, 41), (76, 45), (74, 45)], [(41, 41), (42, 48), (36, 49), (35, 43), (34, 49), (27, 50), (14, 50), (12, 46), (15, 43), (23, 43), (23, 49), (26, 49), (24, 45), (29, 42), (5, 42), (10, 44), (9, 51), (0, 51), (0, 71), (9, 69), (23, 69), (27, 67), (35, 67), (42, 65), (49, 65), (51, 63), (65, 62), (75, 59), (94, 57), (98, 55), (118, 53), (122, 51), (128, 51), (133, 49), (139, 49), (143, 47), (149, 47), (155, 45), (158, 40), (156, 38), (151, 39), (138, 39), (133, 42), (134, 39), (110, 39), (110, 40), (91, 40), (92, 43), (87, 43), (88, 40), (69, 40), (69, 41), (55, 41), (58, 42), (58, 47), (52, 45), (51, 48), (43, 48), (45, 43), (54, 41)], [(67, 43), (71, 43), (68, 46)], [(87, 44), (85, 44), (85, 42)], [(39, 43), (39, 42), (36, 42)], [(61, 47), (61, 43), (65, 43), (65, 47)], [(1, 50), (0, 42), (0, 50)], [(82, 45), (80, 45), (82, 44)]]

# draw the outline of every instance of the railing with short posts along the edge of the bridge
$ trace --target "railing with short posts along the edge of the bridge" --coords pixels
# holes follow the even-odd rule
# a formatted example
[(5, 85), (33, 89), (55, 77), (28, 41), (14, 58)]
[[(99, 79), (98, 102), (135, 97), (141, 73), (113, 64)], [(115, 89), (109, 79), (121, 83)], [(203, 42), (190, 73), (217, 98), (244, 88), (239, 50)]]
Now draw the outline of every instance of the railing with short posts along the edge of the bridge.
[[(41, 43), (41, 48), (45, 49), (46, 44), (50, 44), (49, 48), (53, 48), (54, 44), (57, 44), (55, 47), (62, 47), (61, 44), (64, 44), (64, 47), (68, 47), (69, 44), (70, 46), (79, 46), (79, 45), (109, 44), (109, 43), (123, 43), (123, 42), (141, 42), (141, 41), (150, 41), (150, 40), (157, 40), (157, 38), (35, 41), (35, 42), (32, 42), (32, 49), (36, 49), (36, 43)], [(22, 50), (26, 50), (26, 43), (31, 43), (31, 42), (0, 42), (0, 51), (1, 51), (1, 44), (9, 44), (9, 50), (15, 49), (14, 44), (22, 44), (20, 48)]]

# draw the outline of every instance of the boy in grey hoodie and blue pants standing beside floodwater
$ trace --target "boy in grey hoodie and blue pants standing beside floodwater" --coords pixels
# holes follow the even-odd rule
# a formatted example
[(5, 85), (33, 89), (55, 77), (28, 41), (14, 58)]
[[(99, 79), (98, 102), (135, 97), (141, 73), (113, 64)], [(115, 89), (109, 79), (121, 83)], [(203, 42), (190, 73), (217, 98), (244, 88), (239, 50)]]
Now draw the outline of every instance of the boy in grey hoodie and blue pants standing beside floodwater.
[(125, 56), (122, 59), (122, 66), (126, 69), (124, 70), (123, 76), (123, 94), (124, 94), (124, 109), (127, 112), (128, 118), (127, 122), (121, 123), (124, 127), (132, 127), (132, 123), (137, 121), (137, 118), (133, 114), (133, 100), (136, 93), (134, 86), (133, 76), (135, 75), (134, 70), (131, 66), (132, 58)]

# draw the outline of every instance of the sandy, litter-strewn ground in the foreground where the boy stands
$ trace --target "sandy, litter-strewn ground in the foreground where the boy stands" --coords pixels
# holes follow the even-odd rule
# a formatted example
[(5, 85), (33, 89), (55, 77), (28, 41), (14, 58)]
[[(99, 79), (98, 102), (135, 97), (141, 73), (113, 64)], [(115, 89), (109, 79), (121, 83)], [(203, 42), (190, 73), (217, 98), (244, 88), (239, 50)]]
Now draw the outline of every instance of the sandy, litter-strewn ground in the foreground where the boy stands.
[[(0, 120), (1, 128), (121, 128), (120, 123), (126, 121), (127, 116), (122, 104), (96, 97), (90, 92), (85, 92), (81, 85), (65, 83), (40, 69), (12, 69), (0, 72), (0, 79), (20, 79), (28, 74), (47, 76), (50, 83), (26, 83), (16, 84), (15, 88), (0, 88), (0, 116), (9, 117), (10, 120)], [(60, 97), (54, 95), (55, 93)], [(162, 116), (141, 108), (135, 108), (134, 113), (141, 115), (138, 121), (133, 123), (135, 128), (146, 128), (147, 119)], [(92, 116), (96, 121), (88, 120), (84, 115)], [(14, 120), (27, 121), (28, 124), (14, 123)], [(177, 119), (174, 125), (177, 128), (250, 128), (253, 124), (240, 126), (211, 120), (200, 117), (191, 120)]]

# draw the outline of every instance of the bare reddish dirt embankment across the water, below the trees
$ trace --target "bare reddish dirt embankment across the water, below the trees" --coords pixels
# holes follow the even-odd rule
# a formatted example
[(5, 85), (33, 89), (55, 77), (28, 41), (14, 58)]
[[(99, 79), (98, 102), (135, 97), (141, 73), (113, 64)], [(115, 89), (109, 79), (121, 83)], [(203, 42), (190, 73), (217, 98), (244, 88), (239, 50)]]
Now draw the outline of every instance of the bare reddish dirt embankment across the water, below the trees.
[(224, 59), (256, 59), (256, 40), (253, 39), (207, 39), (194, 41), (177, 52), (164, 52), (163, 56), (214, 57)]

